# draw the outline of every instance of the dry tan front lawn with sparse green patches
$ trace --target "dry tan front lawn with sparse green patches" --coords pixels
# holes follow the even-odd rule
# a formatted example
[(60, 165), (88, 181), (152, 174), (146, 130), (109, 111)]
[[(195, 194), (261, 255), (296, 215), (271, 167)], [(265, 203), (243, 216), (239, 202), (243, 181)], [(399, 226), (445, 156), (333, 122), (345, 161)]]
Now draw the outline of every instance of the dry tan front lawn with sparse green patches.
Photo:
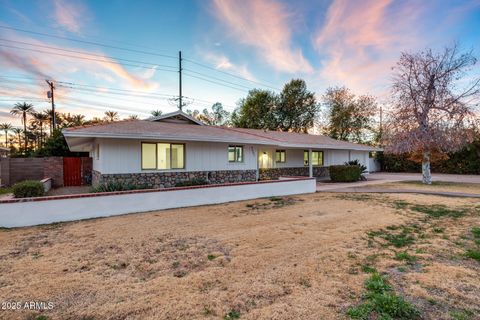
[(375, 268), (424, 319), (479, 319), (475, 226), (478, 199), (317, 193), (5, 229), (0, 302), (53, 308), (0, 318), (347, 319)]

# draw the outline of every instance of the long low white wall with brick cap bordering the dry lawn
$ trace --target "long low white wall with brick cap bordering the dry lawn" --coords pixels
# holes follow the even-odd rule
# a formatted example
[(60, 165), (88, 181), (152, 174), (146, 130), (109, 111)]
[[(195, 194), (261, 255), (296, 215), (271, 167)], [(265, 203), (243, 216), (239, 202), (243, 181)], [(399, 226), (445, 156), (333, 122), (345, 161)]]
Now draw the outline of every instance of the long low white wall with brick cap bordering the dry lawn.
[(0, 200), (0, 226), (25, 227), (231, 201), (313, 193), (310, 178)]

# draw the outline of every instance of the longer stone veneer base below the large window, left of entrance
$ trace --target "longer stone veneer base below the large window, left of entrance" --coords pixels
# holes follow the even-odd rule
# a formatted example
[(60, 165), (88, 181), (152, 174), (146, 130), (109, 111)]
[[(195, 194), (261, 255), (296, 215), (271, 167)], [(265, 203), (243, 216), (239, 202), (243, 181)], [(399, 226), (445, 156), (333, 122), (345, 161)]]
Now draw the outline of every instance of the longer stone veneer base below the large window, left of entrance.
[(222, 170), (222, 171), (191, 171), (191, 172), (149, 172), (149, 173), (119, 173), (102, 174), (93, 170), (92, 184), (124, 183), (148, 188), (170, 188), (177, 182), (191, 179), (206, 179), (212, 184), (243, 181), (256, 181), (255, 170)]

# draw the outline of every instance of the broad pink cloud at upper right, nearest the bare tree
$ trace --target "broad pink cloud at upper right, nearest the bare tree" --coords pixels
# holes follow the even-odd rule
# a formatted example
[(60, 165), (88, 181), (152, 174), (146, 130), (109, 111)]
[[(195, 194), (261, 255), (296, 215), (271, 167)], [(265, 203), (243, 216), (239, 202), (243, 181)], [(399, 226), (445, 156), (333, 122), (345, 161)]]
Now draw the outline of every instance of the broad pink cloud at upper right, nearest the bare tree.
[(325, 57), (321, 76), (357, 91), (384, 91), (400, 52), (425, 45), (417, 24), (423, 9), (409, 1), (335, 0), (314, 41)]

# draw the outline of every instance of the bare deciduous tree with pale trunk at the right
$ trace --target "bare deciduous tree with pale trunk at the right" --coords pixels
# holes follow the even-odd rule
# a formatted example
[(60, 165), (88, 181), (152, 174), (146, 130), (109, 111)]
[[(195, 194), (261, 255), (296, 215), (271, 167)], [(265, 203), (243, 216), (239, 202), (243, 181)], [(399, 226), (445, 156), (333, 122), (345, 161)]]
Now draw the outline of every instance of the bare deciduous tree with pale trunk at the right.
[[(454, 152), (473, 139), (473, 108), (480, 78), (477, 60), (457, 45), (435, 53), (402, 53), (394, 67), (393, 111), (386, 152), (422, 154), (423, 183), (431, 184), (430, 156)], [(468, 75), (468, 77), (467, 77)]]

